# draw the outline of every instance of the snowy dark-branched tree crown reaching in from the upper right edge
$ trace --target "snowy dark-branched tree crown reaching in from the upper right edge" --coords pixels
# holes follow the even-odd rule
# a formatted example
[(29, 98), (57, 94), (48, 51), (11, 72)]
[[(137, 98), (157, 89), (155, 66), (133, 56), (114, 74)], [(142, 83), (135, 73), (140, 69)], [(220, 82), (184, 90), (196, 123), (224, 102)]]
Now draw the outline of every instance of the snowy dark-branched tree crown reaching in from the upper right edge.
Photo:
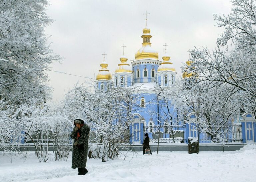
[[(211, 84), (212, 87), (223, 85), (229, 97), (243, 93), (244, 110), (256, 113), (256, 1), (232, 0), (232, 12), (214, 15), (217, 26), (225, 27), (224, 33), (217, 39), (217, 48), (194, 48), (191, 53), (191, 65), (183, 66), (183, 71), (192, 74), (189, 83)], [(233, 44), (229, 51), (227, 43)]]

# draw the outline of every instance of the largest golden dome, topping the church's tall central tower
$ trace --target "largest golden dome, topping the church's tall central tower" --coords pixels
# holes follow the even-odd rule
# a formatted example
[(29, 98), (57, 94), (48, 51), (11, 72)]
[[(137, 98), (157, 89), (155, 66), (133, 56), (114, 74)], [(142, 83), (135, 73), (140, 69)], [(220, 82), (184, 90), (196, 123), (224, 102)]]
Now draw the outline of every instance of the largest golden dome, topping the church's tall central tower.
[(147, 26), (143, 29), (143, 38), (142, 47), (137, 51), (135, 54), (135, 60), (139, 59), (158, 59), (158, 53), (151, 47), (150, 38), (152, 37), (149, 35), (150, 28)]

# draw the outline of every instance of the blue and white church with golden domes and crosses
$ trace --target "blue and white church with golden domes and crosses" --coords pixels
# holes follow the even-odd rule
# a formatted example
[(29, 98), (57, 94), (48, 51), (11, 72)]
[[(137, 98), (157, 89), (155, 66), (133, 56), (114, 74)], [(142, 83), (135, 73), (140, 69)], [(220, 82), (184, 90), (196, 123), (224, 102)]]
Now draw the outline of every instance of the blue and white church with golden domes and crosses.
[[(142, 30), (143, 40), (142, 47), (135, 53), (135, 60), (131, 62), (131, 65), (127, 63), (128, 58), (126, 56), (120, 57), (121, 63), (117, 65), (113, 75), (107, 69), (108, 64), (104, 61), (100, 64), (101, 69), (96, 76), (95, 87), (99, 90), (106, 88), (106, 84), (112, 80), (115, 87), (137, 87), (141, 94), (140, 99), (140, 112), (136, 113), (135, 124), (130, 128), (131, 133), (135, 133), (131, 142), (143, 141), (144, 133), (149, 133), (151, 138), (155, 138), (153, 133), (154, 125), (157, 125), (157, 114), (162, 112), (162, 109), (158, 108), (159, 104), (150, 103), (149, 101), (156, 100), (159, 90), (159, 86), (170, 87), (175, 83), (177, 72), (170, 61), (170, 56), (166, 53), (163, 55), (163, 61), (159, 60), (158, 53), (151, 47), (150, 28), (146, 27)], [(124, 46), (123, 46), (124, 47)], [(103, 54), (104, 55), (104, 54)], [(104, 55), (105, 56), (105, 55)], [(183, 75), (186, 77), (187, 75)], [(152, 115), (155, 115), (154, 118)], [(137, 121), (136, 121), (137, 120)], [(144, 128), (144, 132), (142, 131)], [(161, 134), (161, 133), (160, 133)], [(169, 134), (162, 134), (161, 138), (169, 138)]]

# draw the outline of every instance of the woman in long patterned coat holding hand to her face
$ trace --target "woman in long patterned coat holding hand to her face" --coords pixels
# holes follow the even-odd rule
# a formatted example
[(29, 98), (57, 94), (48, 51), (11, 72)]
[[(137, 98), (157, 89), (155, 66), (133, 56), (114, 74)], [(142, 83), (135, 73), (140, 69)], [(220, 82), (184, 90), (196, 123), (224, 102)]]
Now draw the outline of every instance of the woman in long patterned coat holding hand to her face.
[(88, 171), (86, 167), (88, 154), (88, 140), (90, 127), (87, 126), (82, 119), (75, 119), (75, 127), (70, 137), (74, 139), (72, 153), (72, 168), (78, 168), (78, 175), (85, 175)]

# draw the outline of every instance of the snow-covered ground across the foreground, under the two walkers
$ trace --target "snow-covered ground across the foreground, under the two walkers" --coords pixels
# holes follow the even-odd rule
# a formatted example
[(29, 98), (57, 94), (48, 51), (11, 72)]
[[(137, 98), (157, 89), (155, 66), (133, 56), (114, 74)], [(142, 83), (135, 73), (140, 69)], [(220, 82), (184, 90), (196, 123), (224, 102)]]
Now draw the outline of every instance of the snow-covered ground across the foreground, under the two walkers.
[[(72, 155), (72, 153), (70, 153)], [(0, 181), (71, 182), (71, 181), (255, 181), (256, 145), (247, 145), (239, 151), (153, 152), (153, 155), (128, 153), (125, 160), (102, 163), (88, 159), (85, 176), (71, 169), (67, 162), (39, 163), (31, 152), (24, 161), (19, 156), (10, 158), (0, 153)]]

